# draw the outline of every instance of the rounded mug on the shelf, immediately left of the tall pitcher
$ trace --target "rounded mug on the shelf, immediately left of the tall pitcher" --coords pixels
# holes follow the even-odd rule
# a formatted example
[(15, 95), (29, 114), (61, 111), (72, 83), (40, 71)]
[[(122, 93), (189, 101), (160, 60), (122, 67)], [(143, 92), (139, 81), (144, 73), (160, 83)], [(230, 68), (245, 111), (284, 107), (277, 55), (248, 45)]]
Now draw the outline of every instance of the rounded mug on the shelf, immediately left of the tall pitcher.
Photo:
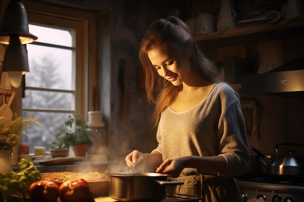
[(216, 31), (216, 16), (209, 13), (201, 13), (196, 18), (195, 32), (209, 33)]

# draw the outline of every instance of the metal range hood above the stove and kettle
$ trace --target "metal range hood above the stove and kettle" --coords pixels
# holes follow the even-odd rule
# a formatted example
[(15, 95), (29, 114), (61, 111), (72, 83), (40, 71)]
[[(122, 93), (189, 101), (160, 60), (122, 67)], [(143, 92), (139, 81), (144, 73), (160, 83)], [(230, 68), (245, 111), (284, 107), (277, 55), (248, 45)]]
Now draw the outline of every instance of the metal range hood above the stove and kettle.
[(287, 62), (263, 74), (241, 76), (244, 94), (304, 94), (304, 57)]

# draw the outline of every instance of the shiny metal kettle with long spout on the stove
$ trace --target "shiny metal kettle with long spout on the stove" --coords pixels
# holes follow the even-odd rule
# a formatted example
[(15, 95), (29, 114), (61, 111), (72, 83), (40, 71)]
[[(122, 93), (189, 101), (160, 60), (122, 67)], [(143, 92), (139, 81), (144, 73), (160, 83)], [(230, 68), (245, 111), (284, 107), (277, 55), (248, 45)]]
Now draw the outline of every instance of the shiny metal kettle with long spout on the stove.
[(260, 155), (267, 163), (267, 173), (270, 175), (304, 176), (304, 156), (292, 155), (295, 151), (288, 151), (289, 155), (279, 155), (278, 147), (282, 145), (292, 145), (304, 147), (298, 143), (278, 143), (275, 145), (277, 155), (268, 158), (254, 147), (250, 147), (256, 154)]

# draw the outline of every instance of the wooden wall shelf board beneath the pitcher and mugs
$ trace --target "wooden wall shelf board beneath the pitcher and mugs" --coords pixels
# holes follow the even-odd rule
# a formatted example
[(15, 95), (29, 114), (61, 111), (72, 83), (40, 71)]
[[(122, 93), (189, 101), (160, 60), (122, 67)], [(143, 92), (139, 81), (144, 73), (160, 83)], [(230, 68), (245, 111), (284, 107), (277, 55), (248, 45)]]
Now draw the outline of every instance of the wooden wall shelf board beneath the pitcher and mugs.
[(223, 47), (300, 35), (304, 35), (304, 16), (282, 20), (278, 24), (261, 23), (223, 32), (195, 33), (194, 39), (203, 47)]

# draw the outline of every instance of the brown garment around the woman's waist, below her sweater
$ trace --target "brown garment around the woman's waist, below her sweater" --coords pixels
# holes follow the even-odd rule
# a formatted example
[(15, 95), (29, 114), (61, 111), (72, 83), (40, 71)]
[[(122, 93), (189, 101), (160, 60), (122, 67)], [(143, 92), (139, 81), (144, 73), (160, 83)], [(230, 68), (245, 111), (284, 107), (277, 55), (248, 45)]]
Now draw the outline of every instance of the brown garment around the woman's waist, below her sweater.
[(203, 196), (203, 202), (243, 202), (236, 178), (196, 174), (171, 180), (184, 185), (167, 186), (169, 193)]

